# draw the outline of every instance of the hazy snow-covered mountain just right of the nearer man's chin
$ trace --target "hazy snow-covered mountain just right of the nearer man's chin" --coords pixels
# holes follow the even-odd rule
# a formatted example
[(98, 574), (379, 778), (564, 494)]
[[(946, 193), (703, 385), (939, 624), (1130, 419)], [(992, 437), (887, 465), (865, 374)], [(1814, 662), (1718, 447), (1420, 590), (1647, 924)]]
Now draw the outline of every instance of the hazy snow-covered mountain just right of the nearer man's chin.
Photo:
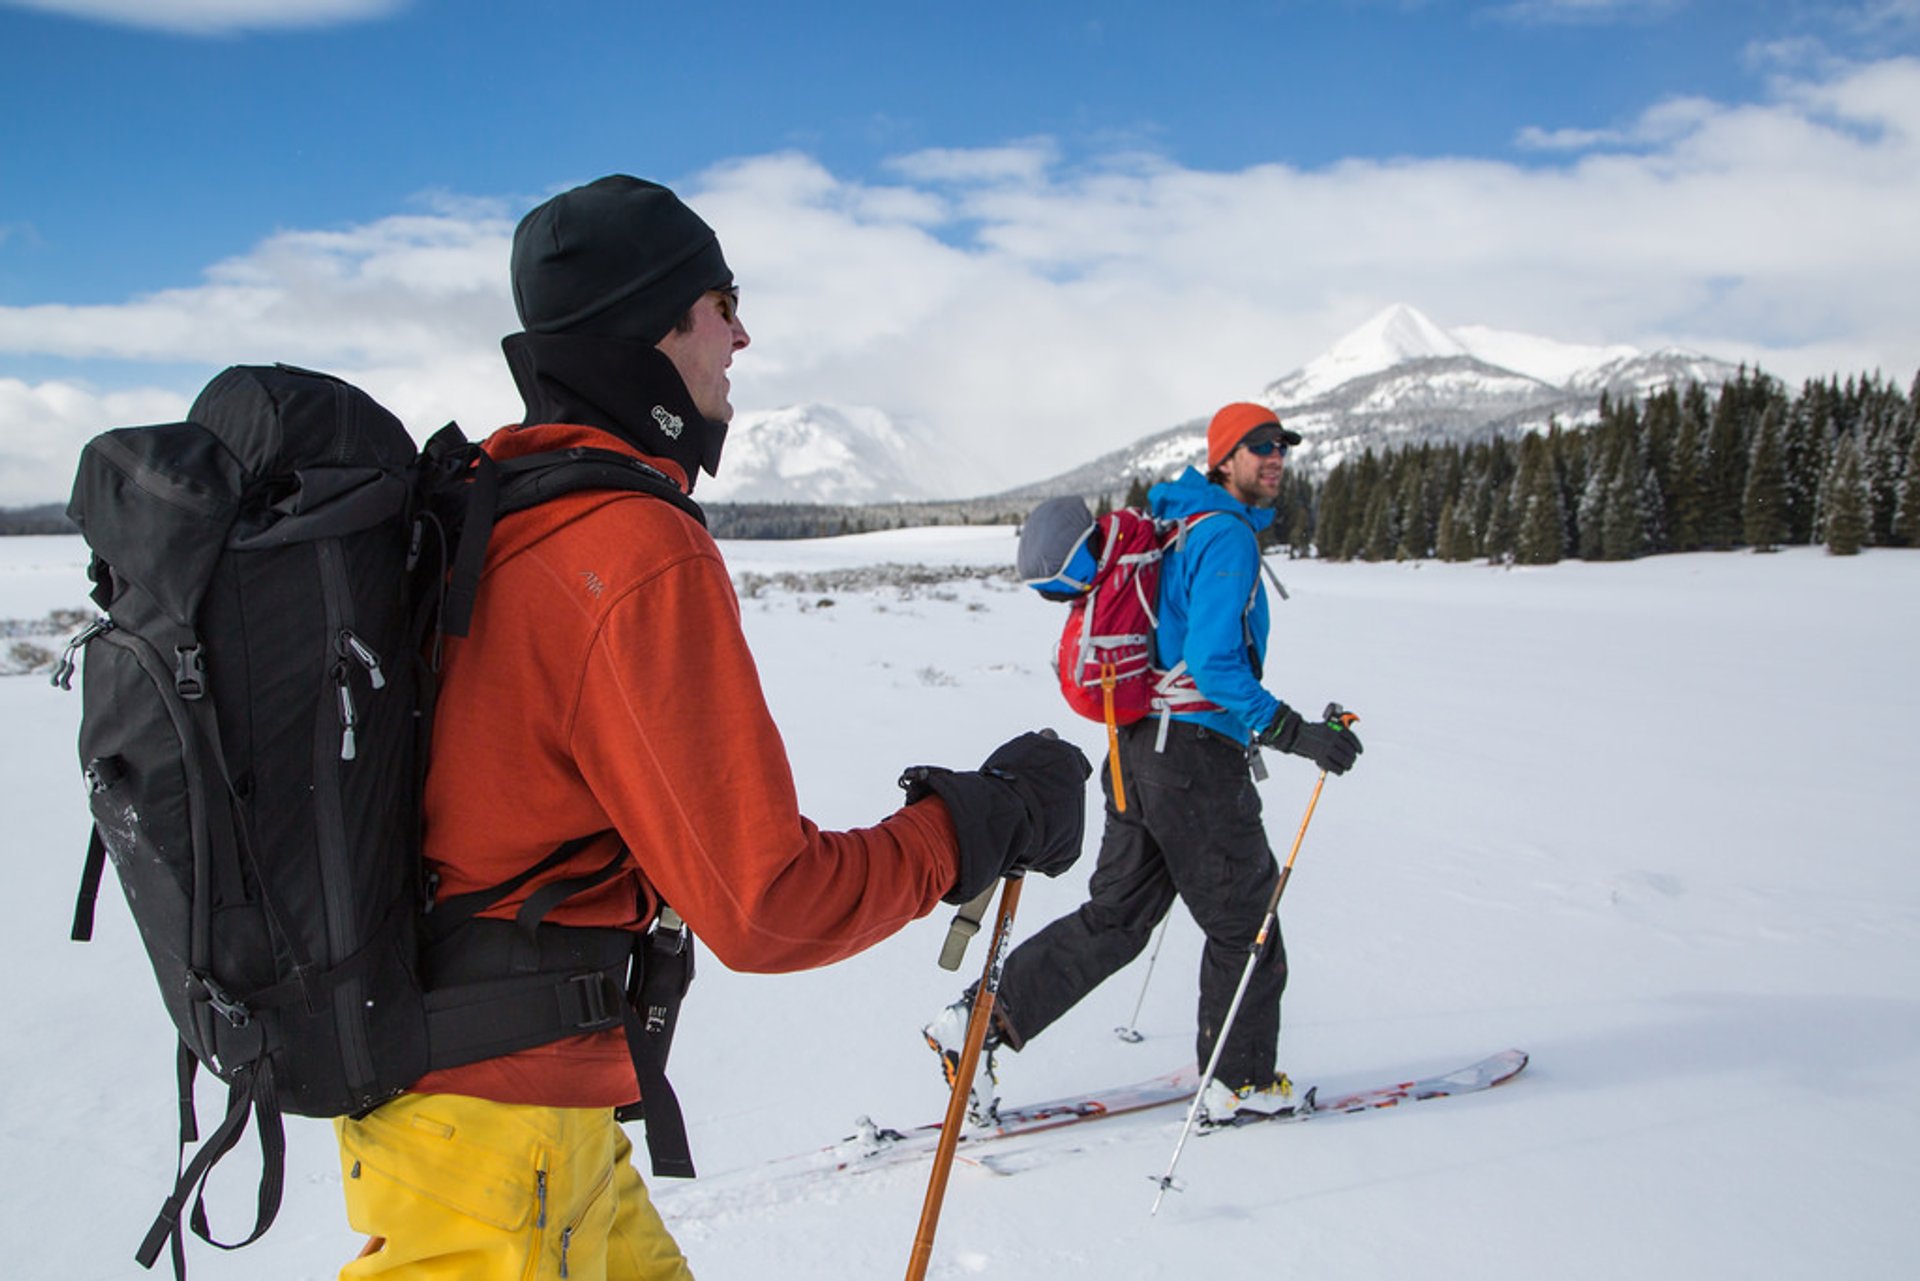
[(943, 446), (879, 409), (789, 405), (741, 413), (726, 467), (701, 476), (708, 503), (891, 503), (939, 494)]

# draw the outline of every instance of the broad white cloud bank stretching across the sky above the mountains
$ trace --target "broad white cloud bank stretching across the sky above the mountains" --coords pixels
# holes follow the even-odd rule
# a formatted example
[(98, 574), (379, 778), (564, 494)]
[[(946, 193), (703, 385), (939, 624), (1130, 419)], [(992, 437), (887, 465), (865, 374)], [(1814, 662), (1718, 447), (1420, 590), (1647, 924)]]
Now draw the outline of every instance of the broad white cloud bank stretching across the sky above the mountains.
[[(877, 405), (956, 444), (968, 492), (1256, 394), (1392, 302), (1444, 325), (1682, 344), (1788, 380), (1880, 369), (1905, 384), (1920, 359), (1914, 60), (1784, 79), (1755, 106), (1661, 104), (1549, 165), (1069, 167), (1037, 140), (920, 152), (877, 182), (758, 156), (682, 194), (743, 282), (755, 344), (735, 405)], [(363, 380), (420, 432), (480, 430), (518, 411), (497, 355), (511, 225), (499, 205), (444, 204), (280, 234), (190, 288), (0, 307), (0, 353), (207, 375), (288, 359)], [(25, 413), (0, 398), (15, 497)], [(56, 419), (77, 447), (125, 421), (102, 415)], [(40, 490), (63, 492), (65, 472)]]

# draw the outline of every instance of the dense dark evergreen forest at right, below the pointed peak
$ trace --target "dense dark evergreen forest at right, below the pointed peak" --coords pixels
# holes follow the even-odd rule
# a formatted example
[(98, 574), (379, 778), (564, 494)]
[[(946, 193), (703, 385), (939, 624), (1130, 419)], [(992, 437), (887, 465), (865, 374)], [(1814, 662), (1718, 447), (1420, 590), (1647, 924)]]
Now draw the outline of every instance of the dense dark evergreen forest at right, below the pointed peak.
[(1599, 421), (1365, 451), (1290, 482), (1275, 538), (1334, 561), (1551, 565), (1816, 544), (1920, 547), (1920, 376), (1763, 373), (1599, 401)]

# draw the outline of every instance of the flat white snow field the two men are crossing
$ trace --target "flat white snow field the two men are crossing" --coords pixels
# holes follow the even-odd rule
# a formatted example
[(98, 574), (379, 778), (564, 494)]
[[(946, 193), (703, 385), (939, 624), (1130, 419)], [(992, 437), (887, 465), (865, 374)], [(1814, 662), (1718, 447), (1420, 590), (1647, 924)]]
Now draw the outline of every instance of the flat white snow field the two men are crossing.
[[(732, 544), (739, 570), (1006, 565), (1010, 530)], [(65, 597), (50, 588), (65, 574)], [(81, 605), (75, 540), (0, 540), (0, 618)], [(1279, 561), (1271, 686), (1361, 713), (1283, 910), (1281, 1060), (1334, 1085), (1532, 1052), (1498, 1091), (1196, 1139), (1148, 1216), (1181, 1116), (1066, 1131), (1023, 1173), (962, 1166), (933, 1277), (1897, 1279), (1920, 1193), (1920, 553), (1690, 555), (1538, 570)], [(762, 590), (745, 622), (801, 797), (828, 826), (897, 803), (902, 764), (972, 764), (1071, 720), (1056, 607), (1006, 580)], [(173, 1177), (173, 1039), (119, 895), (67, 941), (86, 818), (79, 697), (0, 680), (15, 851), (0, 901), (0, 1216), (10, 1277), (138, 1277)], [(1261, 786), (1284, 853), (1313, 774)], [(1096, 832), (1096, 816), (1091, 812)], [(1071, 910), (1091, 853), (1025, 891)], [(766, 1162), (935, 1120), (918, 1026), (960, 985), (948, 912), (783, 978), (707, 958), (674, 1051), (701, 1179), (655, 1183), (703, 1281), (902, 1275), (925, 1168), (776, 1181)], [(1175, 910), (1144, 1043), (1112, 1035), (1144, 958), (1004, 1058), (1035, 1100), (1190, 1058), (1198, 935)], [(975, 943), (966, 970), (981, 960)], [(204, 1097), (202, 1114), (215, 1106)], [(344, 1225), (324, 1122), (290, 1122), (280, 1223), (196, 1245), (192, 1275), (332, 1277)], [(1031, 1143), (1041, 1145), (1043, 1139)], [(253, 1148), (211, 1196), (252, 1221)]]

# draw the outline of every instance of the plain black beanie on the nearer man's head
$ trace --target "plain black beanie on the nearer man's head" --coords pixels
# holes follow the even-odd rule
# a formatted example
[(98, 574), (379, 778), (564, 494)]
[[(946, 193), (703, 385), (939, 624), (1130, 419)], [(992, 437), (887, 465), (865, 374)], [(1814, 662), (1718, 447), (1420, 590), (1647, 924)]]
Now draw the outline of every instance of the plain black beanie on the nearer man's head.
[(609, 175), (540, 205), (513, 232), (513, 305), (530, 334), (653, 346), (733, 273), (701, 215), (659, 182)]

